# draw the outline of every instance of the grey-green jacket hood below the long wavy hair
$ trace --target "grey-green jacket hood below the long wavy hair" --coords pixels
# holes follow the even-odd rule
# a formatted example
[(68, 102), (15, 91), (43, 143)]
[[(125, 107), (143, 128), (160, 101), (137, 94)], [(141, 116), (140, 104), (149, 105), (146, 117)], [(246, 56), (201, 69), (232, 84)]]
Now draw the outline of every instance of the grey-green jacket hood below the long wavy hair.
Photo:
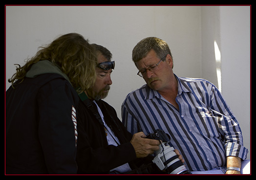
[[(68, 77), (61, 71), (61, 69), (54, 65), (49, 60), (40, 60), (33, 64), (29, 71), (26, 73), (27, 78), (35, 78), (42, 74), (59, 74), (66, 79), (70, 84)], [(71, 84), (72, 85), (72, 84)]]

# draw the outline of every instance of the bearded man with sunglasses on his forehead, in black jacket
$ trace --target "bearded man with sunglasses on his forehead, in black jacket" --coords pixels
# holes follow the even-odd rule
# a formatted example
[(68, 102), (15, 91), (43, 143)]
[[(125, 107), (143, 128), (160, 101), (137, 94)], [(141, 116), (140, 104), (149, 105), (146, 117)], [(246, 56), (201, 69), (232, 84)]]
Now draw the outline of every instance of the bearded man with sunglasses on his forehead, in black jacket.
[[(152, 164), (153, 158), (148, 156), (159, 149), (159, 141), (145, 139), (143, 132), (132, 136), (118, 119), (114, 108), (101, 100), (107, 97), (115, 64), (105, 47), (92, 46), (98, 53), (97, 79), (91, 88), (80, 94), (78, 174), (161, 173)], [(179, 159), (182, 160), (181, 156)]]

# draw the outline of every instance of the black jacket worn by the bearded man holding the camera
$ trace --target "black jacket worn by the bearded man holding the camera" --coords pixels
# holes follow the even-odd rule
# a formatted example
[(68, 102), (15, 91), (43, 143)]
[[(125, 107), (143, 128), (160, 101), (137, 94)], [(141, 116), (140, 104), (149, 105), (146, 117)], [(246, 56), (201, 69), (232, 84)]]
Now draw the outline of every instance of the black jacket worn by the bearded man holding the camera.
[[(96, 101), (107, 125), (113, 130), (121, 145), (107, 144), (104, 126), (81, 100), (78, 106), (78, 174), (108, 174), (115, 167), (129, 162), (131, 169), (142, 164), (151, 164), (151, 156), (136, 159), (133, 146), (129, 142), (132, 135), (118, 119), (115, 109), (103, 100)], [(94, 108), (96, 105), (91, 103)], [(151, 166), (150, 166), (151, 167)], [(154, 167), (155, 171), (157, 168)]]

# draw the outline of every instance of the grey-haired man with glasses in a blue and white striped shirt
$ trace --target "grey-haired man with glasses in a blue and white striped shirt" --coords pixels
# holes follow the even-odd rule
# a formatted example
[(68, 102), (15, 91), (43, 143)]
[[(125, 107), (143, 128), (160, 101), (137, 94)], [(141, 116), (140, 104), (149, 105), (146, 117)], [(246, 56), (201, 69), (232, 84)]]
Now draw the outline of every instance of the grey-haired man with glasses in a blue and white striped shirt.
[(141, 40), (132, 60), (147, 84), (122, 104), (129, 132), (164, 130), (194, 174), (248, 173), (243, 168), (249, 166), (248, 150), (238, 121), (211, 82), (177, 77), (168, 44), (155, 37)]

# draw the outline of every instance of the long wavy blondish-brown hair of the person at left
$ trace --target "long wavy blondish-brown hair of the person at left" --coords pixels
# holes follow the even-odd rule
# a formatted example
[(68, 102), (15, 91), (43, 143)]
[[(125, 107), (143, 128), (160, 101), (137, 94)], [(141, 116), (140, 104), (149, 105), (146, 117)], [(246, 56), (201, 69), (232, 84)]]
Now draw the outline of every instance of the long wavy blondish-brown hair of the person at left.
[(49, 60), (57, 64), (62, 72), (67, 75), (74, 88), (78, 88), (79, 93), (91, 87), (95, 80), (95, 67), (97, 65), (97, 56), (95, 49), (85, 40), (83, 36), (77, 33), (69, 33), (60, 36), (52, 43), (41, 49), (37, 54), (28, 59), (22, 67), (19, 64), (16, 67), (16, 73), (8, 81), (12, 83), (20, 80), (21, 83), (31, 66), (40, 60)]

